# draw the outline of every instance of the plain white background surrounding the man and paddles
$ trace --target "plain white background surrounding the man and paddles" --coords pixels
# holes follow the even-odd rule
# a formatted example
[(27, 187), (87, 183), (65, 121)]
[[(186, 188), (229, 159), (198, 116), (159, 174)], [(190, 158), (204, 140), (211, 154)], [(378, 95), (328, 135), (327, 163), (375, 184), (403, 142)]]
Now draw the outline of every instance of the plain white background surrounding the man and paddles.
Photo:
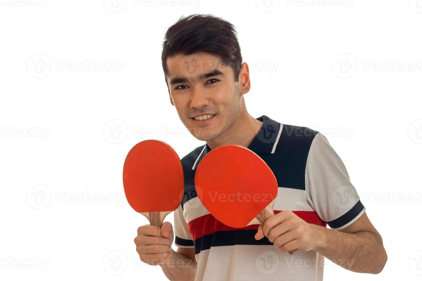
[(135, 251), (148, 222), (122, 165), (144, 139), (180, 157), (205, 144), (170, 104), (160, 54), (180, 16), (211, 13), (237, 28), (249, 113), (325, 134), (384, 240), (379, 275), (327, 262), (325, 280), (420, 280), (418, 1), (0, 0), (0, 278), (167, 280)]

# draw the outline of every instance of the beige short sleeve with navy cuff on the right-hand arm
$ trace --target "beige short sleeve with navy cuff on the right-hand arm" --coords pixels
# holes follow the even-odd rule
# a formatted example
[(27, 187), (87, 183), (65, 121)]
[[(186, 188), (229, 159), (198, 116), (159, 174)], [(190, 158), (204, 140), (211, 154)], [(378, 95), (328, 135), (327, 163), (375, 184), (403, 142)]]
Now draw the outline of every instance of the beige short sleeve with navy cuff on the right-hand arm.
[(334, 230), (351, 225), (365, 212), (343, 161), (320, 132), (309, 149), (305, 189), (308, 202)]

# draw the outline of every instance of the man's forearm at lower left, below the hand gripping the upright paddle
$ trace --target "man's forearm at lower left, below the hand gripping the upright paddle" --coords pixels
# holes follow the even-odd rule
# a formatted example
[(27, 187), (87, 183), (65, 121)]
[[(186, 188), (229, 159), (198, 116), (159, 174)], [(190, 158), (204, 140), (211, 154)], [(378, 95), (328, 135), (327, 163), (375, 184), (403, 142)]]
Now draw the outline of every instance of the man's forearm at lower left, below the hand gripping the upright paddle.
[(160, 264), (165, 276), (171, 281), (195, 280), (197, 263), (187, 255), (170, 249), (171, 255), (166, 263)]

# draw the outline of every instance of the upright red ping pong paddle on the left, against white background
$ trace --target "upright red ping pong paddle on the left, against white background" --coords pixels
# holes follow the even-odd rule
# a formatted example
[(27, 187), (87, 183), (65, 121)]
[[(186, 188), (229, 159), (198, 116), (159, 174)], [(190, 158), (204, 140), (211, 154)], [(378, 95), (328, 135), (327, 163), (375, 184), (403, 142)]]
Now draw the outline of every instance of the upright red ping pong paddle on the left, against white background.
[(127, 153), (123, 187), (129, 205), (150, 225), (161, 227), (168, 214), (179, 207), (184, 191), (179, 156), (165, 142), (148, 139)]

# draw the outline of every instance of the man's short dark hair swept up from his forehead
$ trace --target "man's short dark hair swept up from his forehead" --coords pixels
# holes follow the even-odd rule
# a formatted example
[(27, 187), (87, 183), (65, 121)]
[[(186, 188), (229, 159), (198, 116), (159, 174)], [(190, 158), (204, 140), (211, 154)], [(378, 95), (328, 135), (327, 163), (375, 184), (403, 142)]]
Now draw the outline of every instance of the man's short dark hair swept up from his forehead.
[(213, 15), (192, 14), (179, 18), (167, 29), (161, 62), (167, 83), (167, 58), (204, 51), (216, 54), (223, 65), (230, 65), (238, 82), (242, 55), (233, 24)]

